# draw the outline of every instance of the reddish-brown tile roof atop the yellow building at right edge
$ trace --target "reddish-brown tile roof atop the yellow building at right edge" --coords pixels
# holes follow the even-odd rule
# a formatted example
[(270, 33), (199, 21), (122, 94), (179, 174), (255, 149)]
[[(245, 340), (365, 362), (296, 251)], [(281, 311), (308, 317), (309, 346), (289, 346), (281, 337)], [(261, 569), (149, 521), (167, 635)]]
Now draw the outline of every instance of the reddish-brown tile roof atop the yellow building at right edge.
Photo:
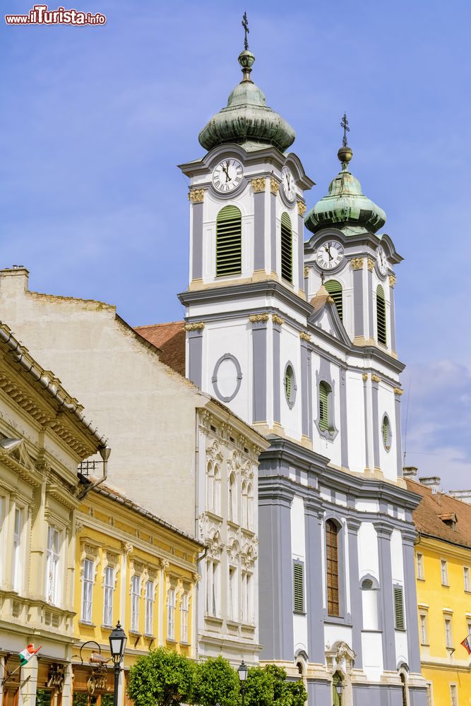
[[(471, 505), (446, 493), (432, 493), (430, 488), (410, 478), (405, 481), (408, 490), (422, 496), (413, 513), (417, 532), (471, 548)], [(455, 530), (450, 522), (453, 515), (456, 517)]]

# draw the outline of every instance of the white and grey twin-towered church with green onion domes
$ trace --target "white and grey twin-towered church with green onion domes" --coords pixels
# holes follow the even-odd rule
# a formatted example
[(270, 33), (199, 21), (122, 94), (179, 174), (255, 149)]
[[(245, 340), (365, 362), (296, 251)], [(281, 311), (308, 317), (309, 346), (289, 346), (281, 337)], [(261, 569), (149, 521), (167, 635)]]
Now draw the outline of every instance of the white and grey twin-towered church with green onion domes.
[[(395, 265), (381, 208), (340, 172), (314, 182), (295, 133), (251, 79), (199, 135), (189, 177), (186, 376), (263, 433), (262, 662), (309, 703), (424, 706), (412, 511), (400, 445)], [(304, 225), (311, 232), (304, 242)], [(340, 696), (341, 695), (341, 696)], [(341, 701), (340, 701), (341, 700)]]

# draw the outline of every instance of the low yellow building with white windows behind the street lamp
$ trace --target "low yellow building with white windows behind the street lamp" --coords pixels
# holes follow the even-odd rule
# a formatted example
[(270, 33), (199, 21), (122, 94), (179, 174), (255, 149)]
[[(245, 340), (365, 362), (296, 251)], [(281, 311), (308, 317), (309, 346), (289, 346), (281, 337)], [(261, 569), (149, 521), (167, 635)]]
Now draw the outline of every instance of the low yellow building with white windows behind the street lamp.
[(204, 547), (103, 485), (85, 497), (77, 522), (73, 705), (111, 706), (107, 660), (117, 621), (128, 637), (119, 693), (125, 704), (137, 657), (161, 645), (196, 657), (197, 559)]

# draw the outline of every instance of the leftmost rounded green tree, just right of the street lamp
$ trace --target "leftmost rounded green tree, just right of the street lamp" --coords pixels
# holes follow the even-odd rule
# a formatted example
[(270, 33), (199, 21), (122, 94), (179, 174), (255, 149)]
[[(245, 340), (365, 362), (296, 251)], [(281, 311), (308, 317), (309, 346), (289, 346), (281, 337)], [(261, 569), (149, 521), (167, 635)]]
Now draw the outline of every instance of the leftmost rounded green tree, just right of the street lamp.
[(129, 671), (128, 694), (135, 706), (177, 706), (191, 700), (193, 664), (165, 647), (140, 657)]

